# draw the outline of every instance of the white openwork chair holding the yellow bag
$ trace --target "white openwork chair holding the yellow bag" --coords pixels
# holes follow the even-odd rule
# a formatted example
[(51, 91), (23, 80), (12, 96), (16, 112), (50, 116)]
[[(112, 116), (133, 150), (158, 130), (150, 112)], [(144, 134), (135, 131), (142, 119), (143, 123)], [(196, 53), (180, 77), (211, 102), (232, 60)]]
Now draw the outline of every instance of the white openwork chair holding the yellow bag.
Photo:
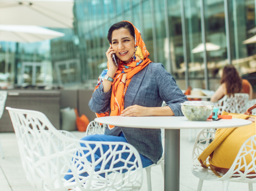
[[(209, 136), (210, 135), (210, 136)], [(226, 174), (219, 173), (222, 177), (216, 176), (210, 167), (208, 169), (204, 169), (200, 162), (198, 161), (198, 156), (204, 151), (204, 149), (210, 144), (209, 140), (214, 138), (215, 130), (214, 129), (203, 129), (200, 131), (196, 138), (196, 142), (194, 144), (193, 153), (192, 153), (192, 165), (191, 170), (192, 173), (198, 177), (199, 183), (197, 191), (202, 190), (202, 185), (204, 180), (208, 181), (222, 181), (223, 182), (223, 191), (228, 191), (228, 184), (230, 181), (232, 182), (242, 182), (248, 183), (249, 191), (252, 191), (252, 183), (256, 183), (256, 174), (249, 174), (250, 172), (256, 172), (256, 165), (255, 161), (256, 158), (254, 154), (256, 152), (255, 145), (256, 145), (256, 135), (250, 137), (248, 140), (244, 142), (241, 146), (236, 159), (234, 160), (232, 166), (228, 170)], [(252, 156), (252, 161), (247, 164), (245, 160), (245, 156)], [(208, 161), (208, 158), (207, 158)], [(207, 162), (208, 163), (208, 162)], [(244, 163), (244, 164), (243, 164)], [(245, 167), (245, 171), (240, 171)]]

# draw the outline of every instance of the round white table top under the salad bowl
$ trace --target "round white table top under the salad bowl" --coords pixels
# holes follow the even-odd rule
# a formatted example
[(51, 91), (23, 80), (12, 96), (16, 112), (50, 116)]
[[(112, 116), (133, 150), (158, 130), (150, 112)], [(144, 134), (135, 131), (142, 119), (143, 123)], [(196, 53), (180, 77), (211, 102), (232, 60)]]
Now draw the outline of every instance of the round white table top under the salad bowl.
[(252, 122), (244, 119), (221, 119), (219, 121), (190, 121), (185, 116), (147, 116), (125, 117), (108, 116), (95, 118), (96, 122), (121, 127), (150, 128), (150, 129), (191, 129), (191, 128), (232, 128), (249, 125)]

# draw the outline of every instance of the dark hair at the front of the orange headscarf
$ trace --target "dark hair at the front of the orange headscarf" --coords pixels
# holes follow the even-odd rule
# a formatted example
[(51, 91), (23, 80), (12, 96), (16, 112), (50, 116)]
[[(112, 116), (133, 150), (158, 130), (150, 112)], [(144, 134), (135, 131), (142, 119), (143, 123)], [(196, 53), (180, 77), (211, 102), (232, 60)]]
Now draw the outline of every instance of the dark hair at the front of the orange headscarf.
[(118, 22), (118, 23), (113, 24), (113, 25), (109, 28), (109, 30), (108, 30), (107, 39), (108, 39), (108, 41), (109, 41), (110, 44), (112, 44), (112, 32), (113, 32), (114, 30), (118, 30), (118, 29), (120, 29), (120, 28), (125, 28), (125, 29), (127, 29), (127, 30), (130, 32), (130, 34), (131, 34), (131, 35), (134, 37), (134, 39), (135, 39), (135, 32), (134, 32), (134, 28), (133, 28), (132, 24), (130, 24), (130, 23), (126, 22), (126, 21), (120, 21), (120, 22)]

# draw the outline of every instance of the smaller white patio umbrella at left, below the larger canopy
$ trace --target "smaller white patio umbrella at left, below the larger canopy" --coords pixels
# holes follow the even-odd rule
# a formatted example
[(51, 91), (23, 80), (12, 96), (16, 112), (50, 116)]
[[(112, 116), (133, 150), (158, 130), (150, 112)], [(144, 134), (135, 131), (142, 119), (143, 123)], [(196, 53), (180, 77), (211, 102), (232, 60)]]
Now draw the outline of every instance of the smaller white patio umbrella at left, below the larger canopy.
[(64, 35), (64, 33), (56, 32), (39, 26), (0, 25), (0, 41), (31, 43), (62, 37)]

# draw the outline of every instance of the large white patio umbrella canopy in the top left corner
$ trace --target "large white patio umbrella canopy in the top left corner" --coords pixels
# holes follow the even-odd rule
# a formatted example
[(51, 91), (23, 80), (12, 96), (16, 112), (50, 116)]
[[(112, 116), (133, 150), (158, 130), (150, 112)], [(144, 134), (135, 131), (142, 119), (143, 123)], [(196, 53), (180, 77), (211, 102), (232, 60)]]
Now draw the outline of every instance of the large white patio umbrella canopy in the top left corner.
[(73, 28), (73, 0), (0, 0), (0, 24)]

